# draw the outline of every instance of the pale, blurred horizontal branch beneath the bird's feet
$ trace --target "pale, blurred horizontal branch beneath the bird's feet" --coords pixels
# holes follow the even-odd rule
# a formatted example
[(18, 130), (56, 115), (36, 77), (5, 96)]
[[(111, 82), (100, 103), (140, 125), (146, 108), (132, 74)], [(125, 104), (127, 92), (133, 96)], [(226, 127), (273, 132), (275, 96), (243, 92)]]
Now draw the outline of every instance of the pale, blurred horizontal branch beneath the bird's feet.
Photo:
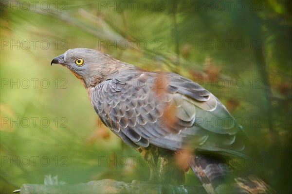
[(202, 186), (126, 183), (103, 179), (75, 185), (23, 184), (20, 194), (206, 194)]

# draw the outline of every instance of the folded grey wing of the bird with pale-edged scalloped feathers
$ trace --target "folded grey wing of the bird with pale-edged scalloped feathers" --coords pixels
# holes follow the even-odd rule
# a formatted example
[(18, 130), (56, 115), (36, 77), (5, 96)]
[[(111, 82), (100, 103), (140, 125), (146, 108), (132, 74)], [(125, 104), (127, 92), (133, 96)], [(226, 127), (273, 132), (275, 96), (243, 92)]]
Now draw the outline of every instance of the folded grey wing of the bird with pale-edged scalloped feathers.
[(128, 145), (240, 155), (243, 133), (224, 105), (178, 74), (130, 69), (92, 88), (101, 120)]

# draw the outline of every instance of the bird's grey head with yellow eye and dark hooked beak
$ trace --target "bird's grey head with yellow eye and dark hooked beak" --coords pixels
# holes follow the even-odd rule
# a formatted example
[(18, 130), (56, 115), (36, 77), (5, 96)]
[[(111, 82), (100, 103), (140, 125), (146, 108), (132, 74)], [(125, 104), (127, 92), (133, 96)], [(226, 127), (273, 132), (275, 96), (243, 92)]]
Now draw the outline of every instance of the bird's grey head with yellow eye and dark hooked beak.
[(64, 54), (55, 57), (52, 64), (61, 64), (83, 81), (85, 87), (96, 84), (109, 72), (108, 65), (119, 62), (103, 52), (77, 48), (69, 49)]

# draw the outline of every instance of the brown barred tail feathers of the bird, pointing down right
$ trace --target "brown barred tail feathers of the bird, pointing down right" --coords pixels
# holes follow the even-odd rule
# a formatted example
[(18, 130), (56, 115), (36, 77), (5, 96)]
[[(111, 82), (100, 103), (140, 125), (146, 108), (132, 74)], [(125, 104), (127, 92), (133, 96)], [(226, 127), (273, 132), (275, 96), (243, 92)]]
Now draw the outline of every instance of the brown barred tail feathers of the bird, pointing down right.
[(211, 157), (190, 157), (189, 166), (208, 194), (274, 194), (264, 181), (255, 176), (234, 177), (230, 167)]

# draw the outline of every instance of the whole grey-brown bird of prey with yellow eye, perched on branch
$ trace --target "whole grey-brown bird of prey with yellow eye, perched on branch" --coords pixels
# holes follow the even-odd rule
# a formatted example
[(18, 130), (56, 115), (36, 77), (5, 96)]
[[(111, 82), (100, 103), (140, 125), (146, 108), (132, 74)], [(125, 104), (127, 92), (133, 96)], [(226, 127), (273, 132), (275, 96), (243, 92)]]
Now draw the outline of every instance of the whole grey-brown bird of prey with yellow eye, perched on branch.
[(190, 167), (208, 193), (271, 191), (259, 178), (233, 175), (224, 156), (248, 158), (246, 136), (219, 99), (198, 83), (93, 49), (69, 49), (52, 64), (81, 80), (102, 122), (145, 157), (150, 181), (182, 184)]

